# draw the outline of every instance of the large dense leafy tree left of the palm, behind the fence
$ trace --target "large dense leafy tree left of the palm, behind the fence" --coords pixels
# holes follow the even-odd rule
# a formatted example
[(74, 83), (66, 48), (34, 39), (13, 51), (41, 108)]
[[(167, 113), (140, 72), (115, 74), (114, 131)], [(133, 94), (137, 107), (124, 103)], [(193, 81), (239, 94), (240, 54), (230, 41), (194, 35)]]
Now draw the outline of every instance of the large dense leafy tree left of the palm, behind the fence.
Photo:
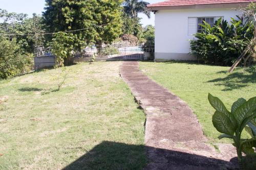
[(78, 52), (93, 43), (99, 46), (110, 43), (121, 34), (121, 3), (121, 0), (46, 0), (43, 13), (46, 29), (71, 31), (68, 34), (73, 37), (74, 50)]

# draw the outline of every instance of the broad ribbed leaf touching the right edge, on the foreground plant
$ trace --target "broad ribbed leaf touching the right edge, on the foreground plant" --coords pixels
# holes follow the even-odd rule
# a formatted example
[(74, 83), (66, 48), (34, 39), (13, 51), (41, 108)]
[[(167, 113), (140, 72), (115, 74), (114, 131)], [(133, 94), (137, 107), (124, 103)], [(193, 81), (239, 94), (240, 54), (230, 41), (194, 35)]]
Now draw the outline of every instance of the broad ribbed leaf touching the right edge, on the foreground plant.
[[(251, 98), (250, 100), (248, 100), (247, 102), (245, 102), (244, 104), (242, 104), (240, 107), (238, 107), (236, 109), (236, 111), (234, 111), (233, 115), (237, 120), (238, 126), (240, 127), (241, 124), (243, 123), (243, 121), (250, 117), (251, 115), (254, 114), (254, 111), (256, 110), (256, 97)], [(252, 117), (254, 118), (254, 117)], [(252, 120), (252, 119), (251, 119)], [(250, 121), (251, 121), (250, 120)], [(250, 122), (249, 121), (249, 122)], [(249, 123), (248, 122), (248, 123)], [(248, 124), (247, 123), (247, 124)], [(246, 124), (246, 125), (247, 125)]]

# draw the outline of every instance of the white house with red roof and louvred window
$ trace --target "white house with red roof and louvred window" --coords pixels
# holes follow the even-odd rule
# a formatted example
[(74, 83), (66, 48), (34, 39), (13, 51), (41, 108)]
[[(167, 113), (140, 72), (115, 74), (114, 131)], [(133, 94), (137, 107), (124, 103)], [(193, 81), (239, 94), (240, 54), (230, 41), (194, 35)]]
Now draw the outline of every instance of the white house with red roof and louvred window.
[(189, 55), (189, 39), (201, 32), (199, 23), (210, 25), (222, 17), (230, 21), (245, 7), (256, 0), (170, 0), (148, 5), (155, 13), (155, 60), (194, 60)]

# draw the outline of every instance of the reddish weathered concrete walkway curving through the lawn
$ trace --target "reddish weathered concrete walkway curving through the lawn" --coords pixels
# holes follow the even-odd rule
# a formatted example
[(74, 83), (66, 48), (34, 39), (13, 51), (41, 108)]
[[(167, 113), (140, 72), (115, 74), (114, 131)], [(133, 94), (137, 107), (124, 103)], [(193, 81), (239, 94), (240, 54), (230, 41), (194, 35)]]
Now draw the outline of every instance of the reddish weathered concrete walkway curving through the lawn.
[(178, 96), (145, 76), (139, 62), (123, 62), (120, 75), (146, 114), (149, 162), (145, 169), (237, 168), (236, 150), (229, 144), (218, 144), (221, 152), (216, 152), (206, 144), (193, 111)]

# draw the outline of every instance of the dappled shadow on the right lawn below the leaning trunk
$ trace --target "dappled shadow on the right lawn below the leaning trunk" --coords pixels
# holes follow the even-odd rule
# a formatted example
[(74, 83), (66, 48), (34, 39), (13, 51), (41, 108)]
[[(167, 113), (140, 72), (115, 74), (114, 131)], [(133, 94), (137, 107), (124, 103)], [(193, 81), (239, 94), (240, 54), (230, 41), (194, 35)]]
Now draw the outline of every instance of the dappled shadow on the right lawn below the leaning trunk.
[[(217, 73), (223, 74), (224, 72), (219, 71)], [(256, 83), (256, 73), (254, 72), (253, 74), (243, 74), (242, 72), (234, 72), (224, 78), (218, 78), (208, 82), (214, 82), (217, 86), (225, 86), (222, 91), (231, 91), (234, 89), (246, 87), (248, 86), (248, 83)]]

